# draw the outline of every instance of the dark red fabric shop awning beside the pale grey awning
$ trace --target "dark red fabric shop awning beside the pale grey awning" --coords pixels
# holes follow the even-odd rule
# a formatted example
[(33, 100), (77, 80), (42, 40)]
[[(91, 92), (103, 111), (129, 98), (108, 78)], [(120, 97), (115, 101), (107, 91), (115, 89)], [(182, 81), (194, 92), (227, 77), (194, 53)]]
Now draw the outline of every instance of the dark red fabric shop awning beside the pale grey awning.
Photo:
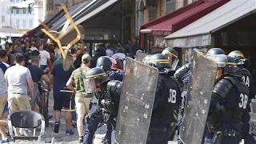
[(141, 33), (169, 35), (209, 14), (230, 0), (199, 0), (142, 26)]

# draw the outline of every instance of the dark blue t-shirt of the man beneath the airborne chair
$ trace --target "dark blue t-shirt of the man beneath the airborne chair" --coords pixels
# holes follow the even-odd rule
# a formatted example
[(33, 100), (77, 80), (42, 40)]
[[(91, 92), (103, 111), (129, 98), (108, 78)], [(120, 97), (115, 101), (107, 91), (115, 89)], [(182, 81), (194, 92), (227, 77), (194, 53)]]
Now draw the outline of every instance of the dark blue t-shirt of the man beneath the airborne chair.
[(59, 94), (60, 90), (63, 90), (66, 87), (66, 82), (69, 80), (70, 75), (74, 71), (74, 68), (70, 68), (70, 70), (63, 70), (63, 64), (58, 63), (54, 66), (54, 70), (52, 70), (52, 74), (54, 75), (54, 94)]

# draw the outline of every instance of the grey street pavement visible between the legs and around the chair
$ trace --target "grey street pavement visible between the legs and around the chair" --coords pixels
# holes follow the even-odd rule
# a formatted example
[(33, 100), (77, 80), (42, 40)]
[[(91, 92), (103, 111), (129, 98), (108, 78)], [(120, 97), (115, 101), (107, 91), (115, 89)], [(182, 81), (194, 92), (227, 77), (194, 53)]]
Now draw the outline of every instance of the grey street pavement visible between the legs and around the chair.
[[(50, 94), (49, 98), (49, 114), (54, 115), (54, 99), (53, 94)], [(61, 126), (59, 129), (59, 133), (54, 133), (54, 118), (50, 119), (49, 127), (46, 127), (45, 133), (42, 135), (42, 139), (40, 143), (51, 143), (51, 140), (54, 138), (54, 143), (56, 144), (78, 144), (78, 130), (77, 128), (73, 128), (75, 134), (74, 135), (66, 135), (66, 125), (65, 125), (65, 112), (62, 112)], [(32, 132), (26, 132), (27, 134), (32, 134)], [(37, 131), (36, 134), (39, 134)], [(94, 144), (101, 144), (102, 138), (104, 138), (106, 134), (106, 125), (102, 126), (101, 129), (96, 131), (94, 137)], [(16, 141), (18, 144), (30, 144), (34, 143), (33, 141)], [(14, 143), (14, 142), (10, 142)], [(169, 144), (175, 144), (177, 142), (169, 142)]]

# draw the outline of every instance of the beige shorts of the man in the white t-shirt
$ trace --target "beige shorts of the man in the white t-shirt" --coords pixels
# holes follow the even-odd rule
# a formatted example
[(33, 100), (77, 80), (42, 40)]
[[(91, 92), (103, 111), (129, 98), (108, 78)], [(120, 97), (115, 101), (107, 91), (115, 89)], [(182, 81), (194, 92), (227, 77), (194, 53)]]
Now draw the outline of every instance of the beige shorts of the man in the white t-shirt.
[(27, 94), (9, 94), (8, 106), (10, 111), (31, 110), (30, 98)]

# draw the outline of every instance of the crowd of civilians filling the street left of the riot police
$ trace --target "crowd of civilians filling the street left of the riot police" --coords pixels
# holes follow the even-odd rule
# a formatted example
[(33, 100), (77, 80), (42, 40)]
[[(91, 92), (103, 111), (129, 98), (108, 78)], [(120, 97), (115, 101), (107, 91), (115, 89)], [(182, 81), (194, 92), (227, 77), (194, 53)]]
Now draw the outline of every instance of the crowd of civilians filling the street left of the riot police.
[[(81, 44), (77, 44), (70, 50), (70, 54), (74, 57), (74, 66), (70, 70), (63, 70), (61, 50), (50, 40), (45, 42), (42, 39), (26, 38), (14, 43), (6, 43), (0, 47), (0, 118), (6, 119), (7, 114), (15, 110), (41, 112), (44, 105), (41, 102), (42, 87), (49, 92), (53, 87), (54, 132), (58, 133), (61, 111), (66, 109), (66, 135), (74, 134), (71, 127), (78, 126), (78, 135), (82, 142), (85, 116), (90, 111), (92, 95), (85, 92), (81, 73), (86, 73), (90, 68), (95, 67), (98, 58), (102, 56), (108, 56), (112, 62), (114, 61), (111, 62), (111, 67), (115, 70), (124, 70), (126, 56), (134, 57), (138, 50), (138, 38), (133, 38), (133, 43), (129, 41), (124, 47), (114, 43), (107, 45), (106, 48), (100, 45), (91, 57), (86, 50), (82, 50)], [(61, 90), (74, 91), (74, 97)], [(76, 112), (68, 111), (70, 108), (76, 109)], [(0, 133), (2, 134), (0, 143), (9, 142), (5, 126), (0, 126)]]

